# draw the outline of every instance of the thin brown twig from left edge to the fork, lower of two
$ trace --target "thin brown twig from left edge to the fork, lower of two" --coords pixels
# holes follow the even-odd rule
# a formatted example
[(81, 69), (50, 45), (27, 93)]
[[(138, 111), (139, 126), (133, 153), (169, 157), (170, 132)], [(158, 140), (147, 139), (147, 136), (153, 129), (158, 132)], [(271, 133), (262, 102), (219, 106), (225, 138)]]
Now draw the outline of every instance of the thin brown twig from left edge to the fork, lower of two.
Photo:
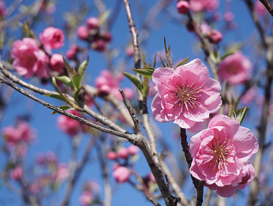
[(98, 125), (96, 125), (96, 124), (94, 124), (94, 123), (91, 123), (91, 122), (89, 122), (89, 121), (87, 121), (87, 120), (85, 120), (85, 119), (83, 119), (83, 118), (81, 118), (81, 117), (78, 117), (78, 116), (76, 116), (76, 115), (72, 115), (72, 114), (70, 114), (70, 113), (68, 113), (68, 112), (66, 112), (66, 111), (64, 111), (64, 110), (62, 110), (62, 109), (60, 109), (60, 108), (57, 107), (57, 106), (54, 106), (54, 105), (52, 105), (52, 104), (50, 104), (50, 103), (48, 103), (48, 102), (45, 102), (45, 101), (43, 101), (43, 100), (41, 100), (41, 99), (35, 97), (34, 95), (30, 94), (29, 92), (25, 91), (24, 89), (22, 89), (22, 88), (20, 88), (20, 87), (14, 85), (14, 84), (8, 82), (7, 80), (3, 79), (2, 77), (0, 77), (0, 82), (1, 82), (1, 83), (7, 84), (8, 86), (10, 86), (10, 87), (12, 87), (13, 89), (17, 90), (17, 91), (20, 92), (21, 94), (23, 94), (23, 95), (25, 95), (25, 96), (27, 96), (27, 97), (33, 99), (34, 101), (36, 101), (36, 102), (38, 102), (38, 103), (44, 105), (46, 108), (52, 109), (52, 110), (54, 110), (54, 111), (56, 111), (56, 112), (58, 112), (58, 113), (60, 113), (60, 114), (63, 114), (63, 115), (65, 115), (65, 116), (67, 116), (67, 117), (70, 117), (70, 118), (72, 118), (72, 119), (74, 119), (74, 120), (76, 120), (76, 121), (79, 121), (79, 122), (81, 122), (81, 123), (83, 123), (83, 124), (85, 124), (85, 125), (88, 125), (88, 126), (90, 126), (90, 127), (92, 127), (92, 128), (95, 128), (95, 129), (97, 129), (97, 130), (100, 130), (101, 132), (109, 133), (109, 134), (116, 135), (116, 136), (119, 136), (119, 137), (124, 137), (124, 138), (129, 138), (129, 137), (130, 137), (130, 134), (129, 134), (129, 133), (128, 133), (128, 134), (125, 134), (125, 133), (116, 132), (116, 131), (114, 131), (114, 130), (110, 130), (110, 129), (107, 129), (107, 128), (98, 126)]

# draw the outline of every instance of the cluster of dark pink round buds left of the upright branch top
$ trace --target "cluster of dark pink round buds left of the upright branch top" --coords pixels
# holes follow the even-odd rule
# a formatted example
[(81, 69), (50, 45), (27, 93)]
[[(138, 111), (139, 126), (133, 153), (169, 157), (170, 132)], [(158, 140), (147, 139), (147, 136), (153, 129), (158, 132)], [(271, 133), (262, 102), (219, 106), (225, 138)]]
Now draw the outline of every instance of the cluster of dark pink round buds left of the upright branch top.
[(89, 17), (86, 19), (86, 25), (82, 25), (77, 29), (78, 38), (91, 44), (91, 48), (103, 52), (106, 43), (111, 42), (112, 34), (108, 31), (101, 31), (100, 22), (97, 17)]

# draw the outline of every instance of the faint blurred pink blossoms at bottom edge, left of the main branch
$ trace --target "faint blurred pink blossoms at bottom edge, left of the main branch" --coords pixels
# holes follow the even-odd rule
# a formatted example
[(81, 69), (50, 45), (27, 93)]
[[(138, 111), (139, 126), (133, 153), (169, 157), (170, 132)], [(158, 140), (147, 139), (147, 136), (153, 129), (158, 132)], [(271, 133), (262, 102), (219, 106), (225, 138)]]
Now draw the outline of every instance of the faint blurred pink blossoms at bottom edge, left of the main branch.
[(100, 191), (100, 186), (95, 181), (89, 181), (83, 186), (83, 192), (79, 197), (79, 203), (83, 206), (91, 205), (95, 196)]

